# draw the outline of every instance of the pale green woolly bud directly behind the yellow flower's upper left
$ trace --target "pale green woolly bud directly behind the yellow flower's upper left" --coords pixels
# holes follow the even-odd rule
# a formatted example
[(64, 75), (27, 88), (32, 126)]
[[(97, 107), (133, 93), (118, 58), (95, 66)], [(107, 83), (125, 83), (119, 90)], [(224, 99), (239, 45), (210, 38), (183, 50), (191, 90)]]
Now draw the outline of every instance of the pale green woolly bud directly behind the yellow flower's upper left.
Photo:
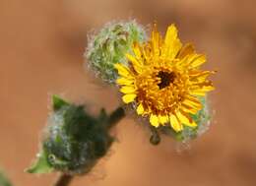
[(85, 53), (89, 66), (103, 81), (114, 83), (118, 76), (114, 64), (127, 65), (125, 54), (132, 51), (134, 42), (144, 41), (146, 33), (135, 21), (130, 21), (107, 24), (90, 37)]

